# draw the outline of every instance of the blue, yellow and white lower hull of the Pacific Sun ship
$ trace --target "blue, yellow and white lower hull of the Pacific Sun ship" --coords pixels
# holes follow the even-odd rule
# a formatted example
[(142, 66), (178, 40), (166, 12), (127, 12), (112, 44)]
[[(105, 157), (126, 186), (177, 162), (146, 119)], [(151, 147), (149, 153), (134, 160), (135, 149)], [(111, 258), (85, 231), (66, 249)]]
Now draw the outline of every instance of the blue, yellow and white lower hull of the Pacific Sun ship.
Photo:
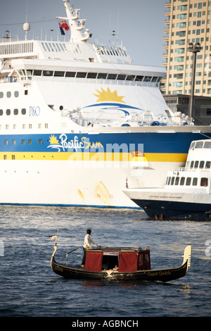
[[(27, 138), (32, 139), (32, 146), (25, 146), (21, 151), (20, 142), (24, 136), (16, 137), (15, 146), (9, 145), (7, 136), (7, 151), (1, 150), (0, 154), (0, 204), (140, 208), (137, 201), (123, 193), (124, 189), (164, 185), (167, 171), (184, 165), (188, 146), (193, 137), (200, 138), (200, 135), (186, 132), (190, 128), (185, 127), (184, 132), (174, 134), (147, 132), (153, 131), (149, 127), (139, 130), (141, 132), (134, 134), (108, 131), (107, 135), (101, 135), (101, 132), (89, 135), (91, 146), (101, 142), (102, 147), (89, 146), (87, 151), (76, 151), (70, 146), (65, 149), (65, 145), (60, 144), (54, 144), (53, 148), (49, 139), (52, 136), (58, 139), (60, 134), (29, 135)], [(211, 135), (209, 130), (210, 127), (206, 135)], [(76, 137), (66, 136), (69, 142)], [(77, 135), (78, 142), (82, 137), (85, 135)], [(1, 138), (4, 141), (4, 137)], [(13, 140), (14, 136), (10, 138)], [(41, 146), (35, 144), (39, 139), (43, 140)], [(125, 152), (120, 149), (123, 142), (127, 147)], [(108, 151), (109, 144), (116, 144), (118, 150)], [(143, 156), (131, 158), (130, 147), (136, 149), (138, 145)], [(11, 159), (12, 156), (15, 159)]]

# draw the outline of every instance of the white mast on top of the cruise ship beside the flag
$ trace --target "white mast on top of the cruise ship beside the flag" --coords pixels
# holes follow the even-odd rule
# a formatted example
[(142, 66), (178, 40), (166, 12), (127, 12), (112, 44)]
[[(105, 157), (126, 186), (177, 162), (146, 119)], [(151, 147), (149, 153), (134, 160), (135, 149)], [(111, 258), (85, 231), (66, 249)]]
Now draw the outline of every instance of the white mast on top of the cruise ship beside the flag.
[(57, 17), (59, 19), (68, 20), (70, 26), (70, 42), (87, 42), (91, 38), (89, 34), (89, 29), (86, 29), (84, 33), (82, 30), (84, 29), (85, 21), (79, 19), (79, 11), (80, 9), (75, 9), (71, 4), (70, 0), (63, 0), (65, 5), (65, 11), (67, 13), (67, 17)]

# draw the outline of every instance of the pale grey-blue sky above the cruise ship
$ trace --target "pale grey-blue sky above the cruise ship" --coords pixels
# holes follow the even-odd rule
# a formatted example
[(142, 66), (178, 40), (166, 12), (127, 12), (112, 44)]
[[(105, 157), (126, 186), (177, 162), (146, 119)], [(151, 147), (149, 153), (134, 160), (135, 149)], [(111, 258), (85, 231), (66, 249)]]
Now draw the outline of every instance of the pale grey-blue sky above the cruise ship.
[[(162, 65), (167, 0), (71, 0), (98, 44), (123, 44), (140, 65)], [(24, 39), (23, 23), (30, 23), (28, 39), (64, 40), (57, 16), (65, 16), (63, 0), (0, 0), (0, 37)], [(53, 30), (53, 31), (51, 31)], [(112, 36), (115, 31), (115, 37)], [(117, 37), (118, 36), (118, 37)], [(70, 39), (70, 32), (65, 36)]]

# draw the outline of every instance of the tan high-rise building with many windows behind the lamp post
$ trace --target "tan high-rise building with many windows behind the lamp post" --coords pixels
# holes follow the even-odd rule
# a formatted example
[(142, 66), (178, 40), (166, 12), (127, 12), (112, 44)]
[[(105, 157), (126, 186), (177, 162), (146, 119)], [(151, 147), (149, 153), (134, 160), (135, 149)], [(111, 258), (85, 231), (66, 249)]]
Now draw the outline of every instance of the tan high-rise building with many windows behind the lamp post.
[(191, 94), (193, 53), (188, 44), (200, 43), (194, 94), (211, 96), (211, 1), (170, 0), (165, 6), (163, 94)]

